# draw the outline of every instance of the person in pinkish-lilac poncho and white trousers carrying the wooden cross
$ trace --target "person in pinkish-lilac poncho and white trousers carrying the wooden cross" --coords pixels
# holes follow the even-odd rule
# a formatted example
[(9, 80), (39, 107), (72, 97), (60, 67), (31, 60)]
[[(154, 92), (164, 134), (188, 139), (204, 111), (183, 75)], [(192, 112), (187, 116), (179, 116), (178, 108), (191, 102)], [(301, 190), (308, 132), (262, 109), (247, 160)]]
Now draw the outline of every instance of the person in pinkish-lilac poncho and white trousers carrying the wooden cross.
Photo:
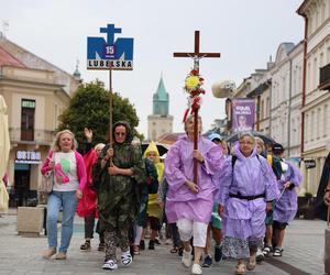
[[(198, 123), (198, 150), (194, 150), (194, 125)], [(212, 177), (221, 168), (222, 153), (219, 146), (205, 139), (201, 119), (194, 116), (185, 122), (184, 136), (174, 143), (165, 158), (165, 177), (168, 183), (166, 216), (176, 222), (184, 245), (182, 262), (191, 265), (190, 239), (194, 237), (194, 265), (191, 274), (202, 274), (200, 257), (206, 246), (207, 228), (213, 208), (216, 190)], [(197, 183), (194, 183), (194, 160), (198, 162)]]

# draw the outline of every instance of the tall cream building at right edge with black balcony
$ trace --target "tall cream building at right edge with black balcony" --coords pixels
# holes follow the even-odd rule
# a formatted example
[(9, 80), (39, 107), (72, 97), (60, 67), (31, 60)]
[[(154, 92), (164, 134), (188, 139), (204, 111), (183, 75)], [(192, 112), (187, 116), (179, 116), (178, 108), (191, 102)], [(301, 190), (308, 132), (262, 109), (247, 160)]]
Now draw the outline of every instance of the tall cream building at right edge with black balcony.
[(330, 141), (330, 1), (305, 0), (297, 12), (305, 19), (301, 156), (316, 162), (304, 175), (316, 194)]

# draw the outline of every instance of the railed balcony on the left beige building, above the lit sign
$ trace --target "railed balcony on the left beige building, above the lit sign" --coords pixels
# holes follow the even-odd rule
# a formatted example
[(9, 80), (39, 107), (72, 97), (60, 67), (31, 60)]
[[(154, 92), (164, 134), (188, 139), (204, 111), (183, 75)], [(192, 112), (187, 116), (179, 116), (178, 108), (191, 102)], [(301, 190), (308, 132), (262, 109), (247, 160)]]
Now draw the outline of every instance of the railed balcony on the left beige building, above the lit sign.
[(21, 128), (9, 128), (10, 142), (51, 145), (54, 141), (55, 131), (34, 129), (34, 132), (32, 134), (23, 134), (24, 132), (26, 131), (22, 130)]

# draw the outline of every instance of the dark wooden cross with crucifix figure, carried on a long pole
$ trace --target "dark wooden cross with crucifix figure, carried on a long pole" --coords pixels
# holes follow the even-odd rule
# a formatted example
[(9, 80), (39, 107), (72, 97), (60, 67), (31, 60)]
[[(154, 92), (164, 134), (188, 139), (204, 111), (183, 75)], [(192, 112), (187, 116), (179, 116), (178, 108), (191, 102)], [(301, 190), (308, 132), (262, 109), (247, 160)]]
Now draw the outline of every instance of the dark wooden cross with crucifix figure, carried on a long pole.
[[(174, 53), (174, 57), (190, 57), (194, 59), (194, 69), (199, 73), (199, 59), (204, 57), (220, 57), (220, 53), (200, 53), (199, 52), (199, 31), (195, 31), (195, 51), (194, 53)], [(194, 150), (198, 148), (198, 109), (195, 111), (194, 123)], [(194, 183), (197, 183), (197, 160), (194, 160)]]

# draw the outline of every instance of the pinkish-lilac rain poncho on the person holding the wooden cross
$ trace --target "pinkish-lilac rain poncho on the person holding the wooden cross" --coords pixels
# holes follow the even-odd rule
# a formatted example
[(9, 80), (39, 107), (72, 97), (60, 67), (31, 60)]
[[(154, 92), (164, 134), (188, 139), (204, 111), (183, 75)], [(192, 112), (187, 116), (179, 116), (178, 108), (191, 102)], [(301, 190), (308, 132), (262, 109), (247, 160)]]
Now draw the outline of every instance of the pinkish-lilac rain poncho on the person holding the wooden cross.
[(178, 219), (209, 223), (216, 186), (212, 177), (221, 168), (222, 151), (211, 141), (199, 136), (198, 151), (204, 155), (205, 163), (198, 164), (198, 188), (194, 194), (185, 184), (194, 179), (194, 142), (183, 135), (173, 144), (165, 158), (165, 177), (168, 183), (166, 196), (166, 216), (168, 222)]

